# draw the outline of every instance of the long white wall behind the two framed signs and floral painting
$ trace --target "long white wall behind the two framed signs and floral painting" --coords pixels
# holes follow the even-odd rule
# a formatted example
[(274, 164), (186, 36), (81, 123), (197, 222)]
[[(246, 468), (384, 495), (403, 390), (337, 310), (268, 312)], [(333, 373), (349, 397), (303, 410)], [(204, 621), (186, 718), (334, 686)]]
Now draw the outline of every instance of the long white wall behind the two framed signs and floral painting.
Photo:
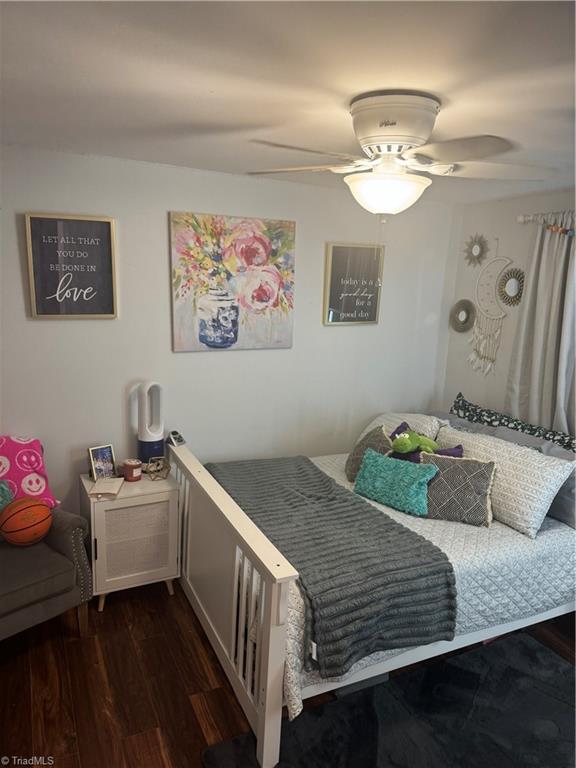
[[(127, 399), (144, 378), (164, 385), (167, 428), (204, 460), (345, 451), (375, 413), (425, 408), (441, 388), (452, 219), (444, 205), (421, 201), (381, 226), (344, 185), (17, 147), (5, 149), (3, 183), (3, 429), (42, 439), (55, 491), (69, 503), (88, 446), (112, 442), (117, 458), (134, 455)], [(296, 220), (292, 349), (171, 351), (170, 210)], [(116, 218), (118, 319), (30, 318), (26, 211)], [(380, 323), (324, 327), (325, 242), (380, 238)]]

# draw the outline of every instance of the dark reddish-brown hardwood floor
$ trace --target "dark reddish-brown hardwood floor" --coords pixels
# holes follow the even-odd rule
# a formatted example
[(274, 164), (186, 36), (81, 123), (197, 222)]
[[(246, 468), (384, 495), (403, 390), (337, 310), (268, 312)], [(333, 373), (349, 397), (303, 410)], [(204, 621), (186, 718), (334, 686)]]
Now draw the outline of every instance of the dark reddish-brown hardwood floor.
[[(574, 658), (574, 615), (529, 630)], [(310, 705), (331, 698), (318, 697)], [(308, 702), (307, 702), (308, 704)], [(109, 595), (0, 642), (0, 757), (56, 768), (199, 768), (209, 744), (248, 723), (179, 587)]]

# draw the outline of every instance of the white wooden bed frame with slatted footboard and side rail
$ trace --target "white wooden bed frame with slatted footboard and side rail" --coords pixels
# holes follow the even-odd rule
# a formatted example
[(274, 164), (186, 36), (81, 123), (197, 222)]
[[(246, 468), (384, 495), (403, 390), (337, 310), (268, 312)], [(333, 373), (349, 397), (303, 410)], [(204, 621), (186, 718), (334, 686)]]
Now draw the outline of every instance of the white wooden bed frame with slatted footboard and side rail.
[[(288, 589), (298, 573), (186, 446), (170, 450), (183, 525), (181, 584), (256, 735), (258, 762), (273, 768), (280, 754)], [(574, 603), (568, 603), (450, 642), (411, 648), (343, 682), (308, 686), (302, 698), (573, 610)]]

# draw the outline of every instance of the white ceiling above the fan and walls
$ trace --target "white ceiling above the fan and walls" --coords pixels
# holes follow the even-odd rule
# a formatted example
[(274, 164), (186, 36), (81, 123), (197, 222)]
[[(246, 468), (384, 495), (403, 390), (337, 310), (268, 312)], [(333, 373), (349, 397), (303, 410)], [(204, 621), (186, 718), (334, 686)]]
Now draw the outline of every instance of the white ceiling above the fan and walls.
[(251, 139), (358, 153), (350, 99), (408, 88), (442, 101), (435, 139), (497, 134), (520, 147), (498, 159), (559, 171), (436, 178), (427, 199), (574, 182), (570, 1), (4, 2), (1, 14), (5, 143), (245, 173), (316, 161)]

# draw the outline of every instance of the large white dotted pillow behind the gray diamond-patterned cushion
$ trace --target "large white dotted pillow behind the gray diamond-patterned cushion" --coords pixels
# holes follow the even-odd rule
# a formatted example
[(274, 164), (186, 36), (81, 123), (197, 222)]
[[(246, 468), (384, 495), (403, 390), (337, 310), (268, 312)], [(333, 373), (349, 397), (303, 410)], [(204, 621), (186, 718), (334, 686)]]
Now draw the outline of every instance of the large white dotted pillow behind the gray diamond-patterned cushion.
[(461, 444), (468, 459), (494, 462), (494, 519), (531, 539), (536, 537), (560, 486), (574, 470), (573, 461), (544, 456), (532, 448), (453, 427), (442, 427), (436, 441), (440, 448)]

